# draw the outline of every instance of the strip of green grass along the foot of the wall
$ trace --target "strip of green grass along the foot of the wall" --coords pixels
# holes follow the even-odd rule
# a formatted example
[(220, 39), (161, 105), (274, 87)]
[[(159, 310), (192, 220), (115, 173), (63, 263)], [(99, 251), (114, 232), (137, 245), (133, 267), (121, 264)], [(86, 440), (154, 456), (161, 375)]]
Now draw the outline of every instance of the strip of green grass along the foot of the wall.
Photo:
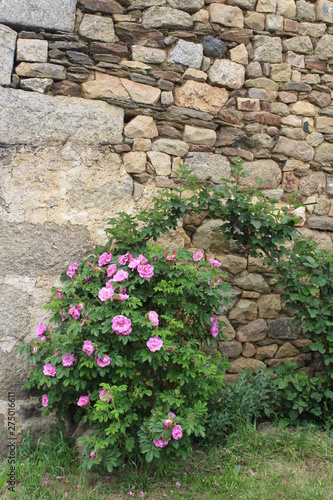
[(1, 464), (3, 499), (333, 499), (333, 438), (315, 427), (261, 432), (247, 426), (223, 446), (194, 447), (190, 459), (166, 463), (163, 472), (131, 462), (103, 477), (80, 470), (61, 434), (38, 440), (28, 434), (17, 449), (16, 467), (12, 493), (8, 464)]

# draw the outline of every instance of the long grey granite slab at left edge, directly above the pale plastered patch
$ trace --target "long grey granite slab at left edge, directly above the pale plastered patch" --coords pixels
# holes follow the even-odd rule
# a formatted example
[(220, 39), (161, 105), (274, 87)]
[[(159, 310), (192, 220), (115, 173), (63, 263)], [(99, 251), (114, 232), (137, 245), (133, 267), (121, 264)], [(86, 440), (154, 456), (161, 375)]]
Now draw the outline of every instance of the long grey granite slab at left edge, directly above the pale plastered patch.
[(86, 144), (123, 140), (124, 111), (105, 102), (0, 89), (0, 112), (3, 144), (37, 145), (69, 138)]

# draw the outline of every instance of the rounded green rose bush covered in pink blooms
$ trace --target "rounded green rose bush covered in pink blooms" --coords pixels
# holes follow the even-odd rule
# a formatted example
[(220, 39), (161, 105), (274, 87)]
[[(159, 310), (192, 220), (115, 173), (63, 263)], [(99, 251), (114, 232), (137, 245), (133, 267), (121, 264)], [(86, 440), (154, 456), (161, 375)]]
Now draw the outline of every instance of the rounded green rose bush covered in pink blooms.
[(46, 306), (55, 329), (38, 325), (20, 350), (31, 366), (24, 389), (38, 390), (43, 414), (62, 419), (72, 408), (94, 430), (80, 438), (88, 468), (111, 471), (138, 453), (185, 458), (228, 366), (216, 351), (216, 314), (230, 287), (201, 252), (105, 250), (61, 276)]

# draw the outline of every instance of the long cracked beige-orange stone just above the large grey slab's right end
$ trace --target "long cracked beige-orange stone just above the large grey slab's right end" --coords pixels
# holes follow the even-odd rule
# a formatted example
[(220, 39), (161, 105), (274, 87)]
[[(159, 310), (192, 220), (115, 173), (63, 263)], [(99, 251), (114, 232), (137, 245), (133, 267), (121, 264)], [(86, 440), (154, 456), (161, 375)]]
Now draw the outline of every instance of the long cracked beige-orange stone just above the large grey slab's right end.
[(112, 99), (120, 102), (134, 101), (135, 103), (155, 106), (159, 101), (161, 91), (151, 85), (96, 72), (95, 80), (82, 84), (82, 95), (88, 99)]

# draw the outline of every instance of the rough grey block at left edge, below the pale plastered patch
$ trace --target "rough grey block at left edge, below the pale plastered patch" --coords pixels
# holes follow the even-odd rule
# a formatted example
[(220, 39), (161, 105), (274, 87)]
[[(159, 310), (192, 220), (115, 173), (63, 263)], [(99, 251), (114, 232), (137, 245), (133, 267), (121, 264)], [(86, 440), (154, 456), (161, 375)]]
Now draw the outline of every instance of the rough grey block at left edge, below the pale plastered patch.
[(53, 276), (91, 252), (84, 226), (1, 222), (0, 275)]

